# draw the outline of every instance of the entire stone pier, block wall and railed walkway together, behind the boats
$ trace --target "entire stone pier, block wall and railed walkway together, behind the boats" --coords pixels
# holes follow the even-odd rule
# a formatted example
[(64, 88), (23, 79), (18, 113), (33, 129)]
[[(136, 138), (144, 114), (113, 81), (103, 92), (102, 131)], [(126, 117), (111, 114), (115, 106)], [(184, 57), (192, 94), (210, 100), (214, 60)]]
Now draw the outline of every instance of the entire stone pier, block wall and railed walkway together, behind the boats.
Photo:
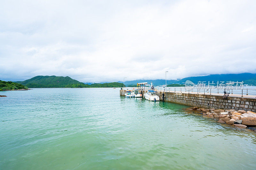
[[(131, 90), (133, 90), (133, 88), (122, 88), (120, 90), (120, 96), (124, 96), (126, 91)], [(141, 90), (143, 95), (149, 89), (145, 88)], [(193, 89), (192, 91), (191, 89), (190, 91), (190, 89), (188, 90), (185, 88), (170, 88), (168, 90), (164, 90), (164, 88), (155, 88), (154, 90), (156, 91), (156, 95), (159, 96), (160, 100), (163, 100), (164, 92), (164, 101), (166, 102), (209, 109), (234, 109), (256, 112), (256, 92), (253, 94), (252, 89), (246, 90), (246, 93), (244, 93), (243, 89), (243, 92), (241, 90), (240, 94), (239, 91), (235, 91), (233, 89), (233, 94), (230, 93), (227, 98), (223, 98), (223, 89), (222, 91), (220, 91), (221, 89), (217, 89), (217, 92), (215, 91), (216, 89), (203, 89), (203, 91), (201, 89)]]

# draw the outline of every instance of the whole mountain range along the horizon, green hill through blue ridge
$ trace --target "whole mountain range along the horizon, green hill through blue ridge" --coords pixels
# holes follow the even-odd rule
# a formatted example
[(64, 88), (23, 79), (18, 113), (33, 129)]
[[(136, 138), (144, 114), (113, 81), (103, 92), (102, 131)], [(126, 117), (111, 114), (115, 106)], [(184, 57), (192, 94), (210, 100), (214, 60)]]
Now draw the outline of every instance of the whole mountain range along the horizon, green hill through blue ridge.
[[(194, 82), (195, 84), (198, 81), (205, 81), (210, 83), (213, 81), (217, 83), (217, 81), (244, 81), (244, 84), (255, 85), (256, 86), (256, 74), (252, 73), (241, 73), (241, 74), (210, 74), (206, 76), (192, 76), (186, 77), (180, 80), (167, 80), (167, 85), (170, 84), (184, 84), (187, 80)], [(93, 84), (84, 84), (83, 82), (79, 82), (74, 80), (68, 76), (43, 76), (38, 75), (31, 79), (25, 81), (16, 81), (15, 83), (20, 83), (28, 88), (92, 88), (92, 87), (123, 87), (125, 86), (134, 86), (139, 82), (150, 82), (155, 86), (158, 85), (165, 85), (164, 79), (157, 79), (157, 80), (132, 80), (132, 81), (118, 81), (118, 82), (111, 82), (111, 83), (93, 83)], [(124, 83), (124, 84), (123, 84)]]

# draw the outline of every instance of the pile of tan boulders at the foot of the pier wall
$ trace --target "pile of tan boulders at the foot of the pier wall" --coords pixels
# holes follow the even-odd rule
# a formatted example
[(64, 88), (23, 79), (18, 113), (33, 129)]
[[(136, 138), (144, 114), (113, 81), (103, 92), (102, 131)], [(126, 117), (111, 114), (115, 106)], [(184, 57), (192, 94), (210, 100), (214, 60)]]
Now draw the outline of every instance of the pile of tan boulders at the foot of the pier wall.
[(199, 111), (205, 117), (218, 119), (219, 123), (226, 123), (239, 128), (249, 128), (256, 131), (256, 113), (252, 111), (203, 109), (198, 107), (192, 107), (187, 110)]

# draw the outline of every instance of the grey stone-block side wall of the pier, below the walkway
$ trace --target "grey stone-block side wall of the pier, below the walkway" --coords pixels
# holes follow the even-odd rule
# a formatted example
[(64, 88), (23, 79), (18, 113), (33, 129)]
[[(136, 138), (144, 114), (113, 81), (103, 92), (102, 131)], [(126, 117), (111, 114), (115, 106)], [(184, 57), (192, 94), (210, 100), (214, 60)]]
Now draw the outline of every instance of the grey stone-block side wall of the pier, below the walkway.
[[(125, 91), (126, 90), (120, 90), (120, 95), (124, 96)], [(143, 90), (142, 94), (145, 92), (147, 91)], [(160, 100), (163, 100), (163, 92), (157, 92), (156, 95), (159, 96)], [(256, 98), (228, 97), (227, 99), (223, 99), (222, 96), (216, 95), (188, 94), (178, 92), (164, 92), (164, 98), (166, 102), (207, 109), (234, 109), (256, 112)]]

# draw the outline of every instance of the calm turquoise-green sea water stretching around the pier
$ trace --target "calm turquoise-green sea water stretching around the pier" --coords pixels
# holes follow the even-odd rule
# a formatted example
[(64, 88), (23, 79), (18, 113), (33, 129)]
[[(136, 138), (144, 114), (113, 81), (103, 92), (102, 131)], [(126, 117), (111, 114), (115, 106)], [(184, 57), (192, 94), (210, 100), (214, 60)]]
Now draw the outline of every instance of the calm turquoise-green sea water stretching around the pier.
[(256, 169), (256, 134), (119, 89), (0, 95), (0, 169)]

